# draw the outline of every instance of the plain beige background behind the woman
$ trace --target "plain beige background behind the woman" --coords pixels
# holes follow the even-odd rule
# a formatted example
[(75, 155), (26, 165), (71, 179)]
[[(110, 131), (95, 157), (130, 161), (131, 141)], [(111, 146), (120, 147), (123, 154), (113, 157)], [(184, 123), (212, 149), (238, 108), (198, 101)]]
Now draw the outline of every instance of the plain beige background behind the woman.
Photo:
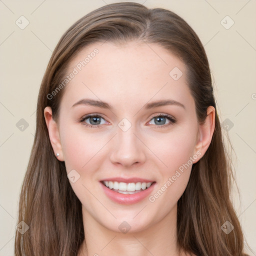
[[(18, 196), (35, 132), (40, 82), (64, 31), (89, 11), (113, 0), (0, 0), (0, 255), (13, 255)], [(236, 153), (234, 205), (256, 255), (256, 0), (137, 0), (168, 8), (192, 26), (205, 46), (221, 122)], [(20, 29), (23, 15), (29, 24)], [(228, 15), (234, 24), (231, 24)], [(221, 24), (221, 20), (222, 24)], [(23, 22), (24, 24), (24, 19)], [(16, 123), (25, 119), (21, 131)], [(223, 126), (224, 127), (224, 126)], [(227, 127), (227, 126), (226, 126)], [(221, 182), (221, 180), (219, 180)], [(156, 255), (155, 255), (156, 256)]]

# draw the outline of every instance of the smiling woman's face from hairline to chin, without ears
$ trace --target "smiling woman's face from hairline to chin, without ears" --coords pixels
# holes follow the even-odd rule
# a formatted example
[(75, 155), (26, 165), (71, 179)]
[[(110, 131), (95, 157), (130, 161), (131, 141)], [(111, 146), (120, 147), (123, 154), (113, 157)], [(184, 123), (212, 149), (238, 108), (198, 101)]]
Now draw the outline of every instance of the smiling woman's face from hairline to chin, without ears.
[(85, 219), (120, 232), (175, 218), (202, 156), (183, 62), (154, 43), (94, 43), (67, 75), (58, 158)]

